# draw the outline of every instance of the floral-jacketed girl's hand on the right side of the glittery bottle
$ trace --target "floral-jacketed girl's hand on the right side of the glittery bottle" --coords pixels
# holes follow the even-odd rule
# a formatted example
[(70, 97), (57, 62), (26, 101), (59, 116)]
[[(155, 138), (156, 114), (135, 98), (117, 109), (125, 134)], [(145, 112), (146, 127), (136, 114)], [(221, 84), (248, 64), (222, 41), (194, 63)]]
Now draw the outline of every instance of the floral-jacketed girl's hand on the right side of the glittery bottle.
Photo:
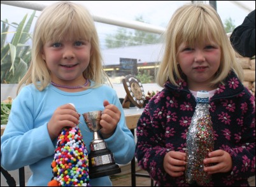
[(232, 169), (231, 155), (224, 150), (218, 149), (208, 155), (210, 158), (204, 159), (204, 163), (214, 163), (215, 165), (204, 167), (208, 174), (229, 172)]

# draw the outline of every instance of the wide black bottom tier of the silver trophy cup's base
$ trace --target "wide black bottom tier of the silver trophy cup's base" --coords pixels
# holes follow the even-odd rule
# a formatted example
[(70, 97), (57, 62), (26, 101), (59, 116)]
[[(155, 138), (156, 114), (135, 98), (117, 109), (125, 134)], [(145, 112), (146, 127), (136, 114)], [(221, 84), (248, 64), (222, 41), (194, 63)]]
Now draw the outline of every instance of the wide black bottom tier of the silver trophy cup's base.
[(106, 164), (99, 167), (93, 167), (89, 170), (90, 179), (95, 179), (104, 176), (111, 176), (121, 172), (120, 167), (115, 164)]

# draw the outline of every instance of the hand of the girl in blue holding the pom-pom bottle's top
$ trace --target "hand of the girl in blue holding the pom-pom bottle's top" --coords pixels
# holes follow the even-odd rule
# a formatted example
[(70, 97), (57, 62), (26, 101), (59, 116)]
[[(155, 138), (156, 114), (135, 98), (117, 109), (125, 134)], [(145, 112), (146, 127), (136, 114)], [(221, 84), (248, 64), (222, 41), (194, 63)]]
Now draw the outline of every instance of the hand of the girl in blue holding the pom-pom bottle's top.
[(80, 115), (71, 104), (64, 104), (54, 111), (52, 118), (47, 124), (50, 138), (53, 140), (60, 134), (64, 127), (76, 127)]

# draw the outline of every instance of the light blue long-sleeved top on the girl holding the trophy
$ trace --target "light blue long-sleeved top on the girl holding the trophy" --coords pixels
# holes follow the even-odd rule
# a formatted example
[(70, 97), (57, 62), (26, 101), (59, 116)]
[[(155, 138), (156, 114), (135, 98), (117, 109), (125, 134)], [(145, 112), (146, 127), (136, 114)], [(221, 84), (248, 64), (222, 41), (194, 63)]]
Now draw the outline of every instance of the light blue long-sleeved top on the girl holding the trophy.
[[(91, 82), (93, 84), (93, 82)], [(121, 111), (115, 133), (104, 139), (113, 153), (115, 162), (125, 164), (132, 160), (135, 151), (134, 137), (125, 123), (122, 105), (113, 88), (102, 85), (83, 92), (63, 92), (52, 85), (39, 91), (34, 85), (27, 85), (13, 100), (8, 124), (1, 136), (1, 166), (15, 170), (29, 165), (32, 176), (27, 186), (47, 186), (52, 179), (51, 163), (57, 139), (52, 141), (48, 134), (47, 123), (57, 107), (73, 103), (78, 113), (103, 110), (103, 101), (108, 100)], [(80, 130), (88, 151), (92, 132), (80, 116)], [(100, 177), (90, 180), (91, 186), (112, 186), (110, 178)]]

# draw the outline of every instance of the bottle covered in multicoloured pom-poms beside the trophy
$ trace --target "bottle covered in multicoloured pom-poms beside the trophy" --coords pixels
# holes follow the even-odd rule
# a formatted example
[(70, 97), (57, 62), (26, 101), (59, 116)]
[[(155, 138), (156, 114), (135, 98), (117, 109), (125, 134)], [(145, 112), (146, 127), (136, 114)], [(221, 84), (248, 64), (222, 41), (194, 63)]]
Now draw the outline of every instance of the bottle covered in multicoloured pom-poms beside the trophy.
[(87, 148), (78, 127), (65, 127), (58, 137), (48, 186), (90, 186)]

